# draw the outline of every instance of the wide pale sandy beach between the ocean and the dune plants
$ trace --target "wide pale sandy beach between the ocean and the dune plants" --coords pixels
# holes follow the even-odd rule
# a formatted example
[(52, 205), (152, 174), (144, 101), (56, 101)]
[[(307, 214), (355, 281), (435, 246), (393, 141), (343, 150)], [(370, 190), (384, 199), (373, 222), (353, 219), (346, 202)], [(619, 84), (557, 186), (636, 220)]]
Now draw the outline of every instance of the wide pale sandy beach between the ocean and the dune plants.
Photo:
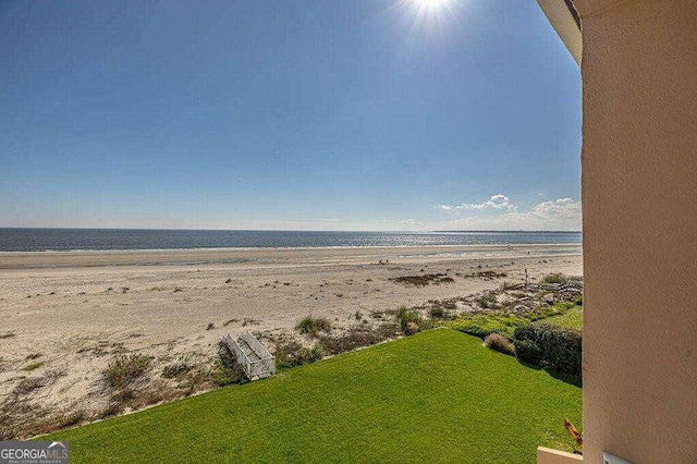
[[(466, 296), (550, 272), (580, 276), (580, 245), (411, 248), (247, 248), (0, 254), (0, 402), (22, 393), (41, 407), (84, 411), (108, 401), (102, 370), (114, 356), (205, 364), (228, 332), (292, 332), (307, 315), (335, 330), (356, 313)], [(505, 273), (469, 277), (476, 270)], [(443, 273), (425, 286), (391, 279)], [(458, 310), (467, 310), (461, 307)], [(38, 366), (37, 366), (38, 365)], [(35, 367), (36, 366), (36, 367)]]

